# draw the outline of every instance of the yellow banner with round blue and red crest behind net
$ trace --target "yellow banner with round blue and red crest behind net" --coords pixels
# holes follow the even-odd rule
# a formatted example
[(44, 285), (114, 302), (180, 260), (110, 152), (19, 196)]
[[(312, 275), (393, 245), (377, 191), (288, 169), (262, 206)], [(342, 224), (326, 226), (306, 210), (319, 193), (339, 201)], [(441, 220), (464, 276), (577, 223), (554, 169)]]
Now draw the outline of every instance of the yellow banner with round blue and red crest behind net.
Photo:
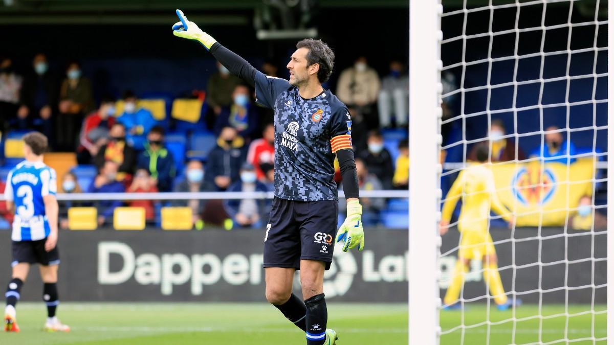
[[(497, 194), (516, 214), (516, 225), (561, 226), (583, 195), (593, 193), (593, 158), (562, 163), (505, 163), (492, 166)], [(569, 211), (572, 209), (572, 211)]]

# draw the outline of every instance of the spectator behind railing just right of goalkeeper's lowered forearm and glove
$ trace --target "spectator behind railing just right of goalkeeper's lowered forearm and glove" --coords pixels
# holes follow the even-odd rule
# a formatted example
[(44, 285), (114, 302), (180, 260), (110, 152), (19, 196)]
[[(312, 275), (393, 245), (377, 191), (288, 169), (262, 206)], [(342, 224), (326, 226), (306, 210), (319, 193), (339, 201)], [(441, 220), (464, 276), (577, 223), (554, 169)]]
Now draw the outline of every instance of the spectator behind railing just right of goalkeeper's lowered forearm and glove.
[[(360, 158), (356, 159), (356, 176), (358, 177), (358, 187), (363, 190), (382, 190), (382, 184), (375, 174), (371, 174), (365, 162)], [(339, 212), (346, 212), (346, 201), (340, 198)], [(360, 198), (362, 205), (362, 223), (364, 225), (377, 225), (379, 223), (379, 211), (386, 207), (386, 200), (383, 198)]]

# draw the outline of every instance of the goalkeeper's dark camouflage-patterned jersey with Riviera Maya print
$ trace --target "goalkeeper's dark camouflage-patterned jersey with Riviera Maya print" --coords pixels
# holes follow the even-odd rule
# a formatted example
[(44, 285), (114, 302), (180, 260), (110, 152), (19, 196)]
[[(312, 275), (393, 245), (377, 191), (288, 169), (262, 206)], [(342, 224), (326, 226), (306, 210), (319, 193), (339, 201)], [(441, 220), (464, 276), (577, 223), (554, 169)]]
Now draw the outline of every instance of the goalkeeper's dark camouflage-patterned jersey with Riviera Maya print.
[(329, 90), (304, 99), (288, 80), (255, 74), (257, 102), (274, 110), (275, 196), (337, 200), (335, 152), (352, 149), (348, 108)]

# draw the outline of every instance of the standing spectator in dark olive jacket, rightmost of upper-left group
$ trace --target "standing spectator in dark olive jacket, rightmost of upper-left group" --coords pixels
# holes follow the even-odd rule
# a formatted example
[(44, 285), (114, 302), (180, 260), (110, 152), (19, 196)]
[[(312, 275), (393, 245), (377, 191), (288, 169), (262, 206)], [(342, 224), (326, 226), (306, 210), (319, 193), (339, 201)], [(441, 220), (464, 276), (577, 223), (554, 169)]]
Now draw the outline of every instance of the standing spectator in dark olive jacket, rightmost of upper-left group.
[(56, 146), (58, 150), (72, 152), (79, 135), (79, 124), (84, 114), (94, 110), (90, 80), (81, 74), (79, 63), (73, 62), (66, 69), (66, 79), (60, 87), (60, 104), (56, 122)]

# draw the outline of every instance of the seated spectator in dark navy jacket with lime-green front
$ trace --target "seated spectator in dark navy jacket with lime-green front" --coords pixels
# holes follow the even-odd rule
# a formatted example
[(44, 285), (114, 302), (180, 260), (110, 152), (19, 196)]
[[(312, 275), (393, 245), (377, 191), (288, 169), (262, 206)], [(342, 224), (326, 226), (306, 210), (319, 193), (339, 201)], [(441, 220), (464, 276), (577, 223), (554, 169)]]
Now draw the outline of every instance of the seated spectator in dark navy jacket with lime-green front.
[(147, 169), (160, 192), (171, 191), (176, 169), (173, 152), (164, 145), (164, 129), (161, 126), (153, 126), (147, 133), (145, 150), (139, 154), (137, 166)]

